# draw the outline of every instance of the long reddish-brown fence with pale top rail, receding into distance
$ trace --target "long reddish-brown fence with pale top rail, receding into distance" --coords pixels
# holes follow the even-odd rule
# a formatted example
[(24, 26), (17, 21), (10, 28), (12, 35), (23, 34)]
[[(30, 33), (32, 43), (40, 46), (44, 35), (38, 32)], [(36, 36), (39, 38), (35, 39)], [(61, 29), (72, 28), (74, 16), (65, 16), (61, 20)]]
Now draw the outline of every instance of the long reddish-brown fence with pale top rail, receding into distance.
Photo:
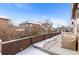
[(30, 45), (34, 43), (51, 38), (58, 34), (59, 33), (44, 34), (44, 35), (39, 35), (39, 36), (31, 36), (31, 37), (25, 37), (21, 39), (3, 42), (2, 54), (3, 55), (16, 54), (17, 52), (24, 50), (25, 48), (29, 47)]

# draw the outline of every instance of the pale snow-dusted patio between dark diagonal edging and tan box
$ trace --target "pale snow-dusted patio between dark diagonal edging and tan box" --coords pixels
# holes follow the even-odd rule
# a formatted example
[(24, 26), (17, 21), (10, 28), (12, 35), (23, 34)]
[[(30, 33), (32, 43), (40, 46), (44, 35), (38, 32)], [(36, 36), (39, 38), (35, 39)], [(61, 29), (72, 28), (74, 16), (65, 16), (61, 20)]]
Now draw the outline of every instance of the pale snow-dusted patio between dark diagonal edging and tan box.
[(41, 41), (39, 43), (33, 44), (35, 47), (40, 48), (42, 51), (47, 51), (47, 53), (57, 54), (57, 55), (79, 55), (79, 51), (73, 51), (69, 49), (64, 49), (61, 47), (61, 35), (49, 38), (47, 40)]

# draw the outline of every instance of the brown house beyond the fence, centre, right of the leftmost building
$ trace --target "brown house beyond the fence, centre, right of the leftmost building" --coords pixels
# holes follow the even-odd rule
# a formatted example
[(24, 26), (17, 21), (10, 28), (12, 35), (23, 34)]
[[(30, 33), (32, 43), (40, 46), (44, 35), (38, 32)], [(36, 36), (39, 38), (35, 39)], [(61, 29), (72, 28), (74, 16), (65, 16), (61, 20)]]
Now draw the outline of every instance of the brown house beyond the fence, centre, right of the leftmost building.
[(52, 29), (49, 27), (47, 23), (21, 23), (19, 24), (21, 29), (24, 29), (26, 32), (34, 33), (34, 34), (46, 34), (52, 33)]

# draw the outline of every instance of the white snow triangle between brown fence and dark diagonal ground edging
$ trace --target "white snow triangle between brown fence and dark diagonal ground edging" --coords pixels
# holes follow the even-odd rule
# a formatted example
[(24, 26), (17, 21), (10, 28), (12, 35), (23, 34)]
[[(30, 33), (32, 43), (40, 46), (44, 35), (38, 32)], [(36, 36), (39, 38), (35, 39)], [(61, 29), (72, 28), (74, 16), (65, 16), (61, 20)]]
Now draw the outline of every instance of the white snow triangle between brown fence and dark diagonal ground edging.
[(17, 53), (16, 55), (49, 55), (33, 46), (28, 47), (27, 49)]

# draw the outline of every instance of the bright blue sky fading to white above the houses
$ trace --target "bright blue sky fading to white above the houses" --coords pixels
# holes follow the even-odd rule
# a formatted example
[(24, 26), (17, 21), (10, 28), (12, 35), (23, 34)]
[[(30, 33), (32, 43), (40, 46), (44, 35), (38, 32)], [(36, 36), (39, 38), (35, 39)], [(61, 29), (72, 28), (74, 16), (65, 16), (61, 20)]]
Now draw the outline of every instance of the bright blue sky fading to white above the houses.
[(42, 21), (50, 18), (54, 23), (68, 24), (71, 17), (69, 3), (6, 3), (0, 4), (0, 15), (17, 23), (30, 20)]

